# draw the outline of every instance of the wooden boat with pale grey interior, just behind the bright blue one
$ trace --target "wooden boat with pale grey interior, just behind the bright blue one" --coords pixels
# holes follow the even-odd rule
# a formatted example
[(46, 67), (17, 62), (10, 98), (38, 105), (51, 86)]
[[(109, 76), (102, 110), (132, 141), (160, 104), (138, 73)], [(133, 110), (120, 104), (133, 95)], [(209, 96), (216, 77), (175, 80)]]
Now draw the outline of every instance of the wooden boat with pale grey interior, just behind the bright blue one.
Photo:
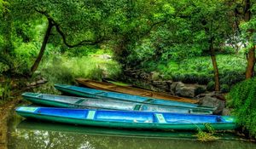
[(23, 98), (34, 104), (44, 106), (68, 107), (68, 108), (96, 108), (123, 111), (143, 111), (143, 112), (177, 112), (194, 114), (212, 114), (212, 111), (197, 108), (186, 108), (177, 106), (148, 105), (122, 100), (102, 100), (93, 98), (79, 98), (64, 95), (46, 95), (39, 93), (23, 93)]

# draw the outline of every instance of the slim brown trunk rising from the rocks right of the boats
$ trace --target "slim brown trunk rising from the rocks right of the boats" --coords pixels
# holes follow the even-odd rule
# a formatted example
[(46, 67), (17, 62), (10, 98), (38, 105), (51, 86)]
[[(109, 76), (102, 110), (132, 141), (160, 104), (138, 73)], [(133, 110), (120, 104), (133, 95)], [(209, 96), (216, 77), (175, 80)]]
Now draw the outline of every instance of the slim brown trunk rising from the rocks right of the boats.
[(219, 91), (220, 86), (219, 86), (219, 77), (218, 77), (218, 65), (217, 65), (215, 51), (214, 51), (214, 48), (213, 48), (213, 38), (210, 39), (210, 48), (209, 48), (209, 50), (210, 50), (210, 53), (211, 53), (212, 66), (213, 66), (213, 71), (214, 71), (215, 91)]

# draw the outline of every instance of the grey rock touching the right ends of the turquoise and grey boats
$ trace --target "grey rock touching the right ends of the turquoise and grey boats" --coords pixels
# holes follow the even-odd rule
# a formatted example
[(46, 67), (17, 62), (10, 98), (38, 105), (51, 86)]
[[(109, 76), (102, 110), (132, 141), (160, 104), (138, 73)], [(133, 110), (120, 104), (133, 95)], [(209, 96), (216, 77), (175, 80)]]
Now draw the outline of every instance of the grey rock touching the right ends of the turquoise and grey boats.
[(225, 101), (224, 100), (218, 100), (216, 97), (211, 96), (204, 96), (199, 99), (200, 104), (202, 106), (213, 106), (217, 109), (213, 112), (213, 114), (221, 114), (223, 112)]

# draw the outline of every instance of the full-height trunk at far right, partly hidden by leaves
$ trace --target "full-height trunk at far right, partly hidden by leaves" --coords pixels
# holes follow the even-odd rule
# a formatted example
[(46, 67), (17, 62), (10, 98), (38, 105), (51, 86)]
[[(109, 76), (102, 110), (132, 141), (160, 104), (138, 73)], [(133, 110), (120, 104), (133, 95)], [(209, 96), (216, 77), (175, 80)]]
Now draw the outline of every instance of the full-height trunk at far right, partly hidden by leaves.
[[(252, 12), (251, 12), (251, 2), (250, 0), (245, 1), (244, 5), (244, 20), (250, 21)], [(247, 39), (249, 39), (253, 36), (253, 29), (247, 30)], [(253, 41), (254, 42), (254, 41)], [(255, 43), (253, 43), (255, 44)], [(255, 45), (249, 49), (249, 52), (247, 54), (247, 71), (246, 71), (246, 79), (253, 77), (254, 72), (254, 66), (255, 66)]]

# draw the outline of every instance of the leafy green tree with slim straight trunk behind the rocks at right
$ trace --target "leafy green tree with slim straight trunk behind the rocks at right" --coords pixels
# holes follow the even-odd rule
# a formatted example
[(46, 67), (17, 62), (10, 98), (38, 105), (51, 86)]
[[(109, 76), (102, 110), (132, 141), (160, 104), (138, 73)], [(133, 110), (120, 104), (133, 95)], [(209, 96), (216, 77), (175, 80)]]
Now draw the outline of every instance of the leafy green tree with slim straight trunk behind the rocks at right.
[[(212, 67), (214, 71), (215, 90), (219, 91), (218, 64), (216, 60), (216, 49), (227, 39), (227, 35), (232, 32), (232, 23), (230, 20), (230, 9), (228, 3), (222, 0), (196, 0), (183, 1), (185, 6), (180, 7), (179, 17), (187, 20), (190, 26), (189, 42), (190, 44), (204, 45), (204, 52), (211, 55)], [(186, 42), (186, 43), (187, 43)], [(201, 48), (204, 48), (201, 46)]]

